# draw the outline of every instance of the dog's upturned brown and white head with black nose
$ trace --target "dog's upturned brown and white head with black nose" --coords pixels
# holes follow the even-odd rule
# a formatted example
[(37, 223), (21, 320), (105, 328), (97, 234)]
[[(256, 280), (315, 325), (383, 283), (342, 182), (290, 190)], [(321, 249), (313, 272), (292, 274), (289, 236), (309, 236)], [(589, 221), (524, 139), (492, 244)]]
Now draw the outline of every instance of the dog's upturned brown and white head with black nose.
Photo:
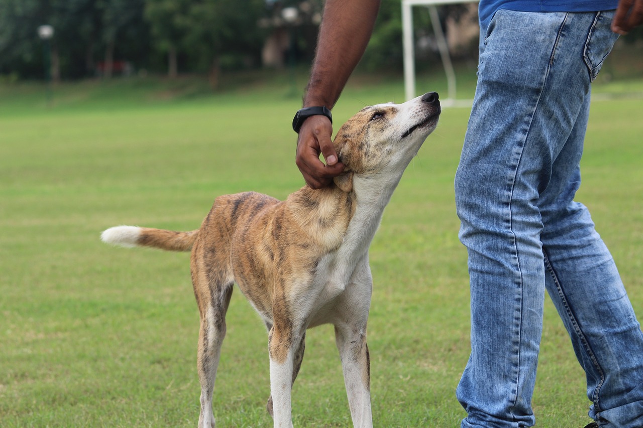
[(335, 136), (333, 145), (345, 165), (335, 178), (342, 190), (352, 188), (352, 175), (400, 175), (435, 129), (440, 116), (437, 93), (402, 104), (385, 103), (361, 109)]

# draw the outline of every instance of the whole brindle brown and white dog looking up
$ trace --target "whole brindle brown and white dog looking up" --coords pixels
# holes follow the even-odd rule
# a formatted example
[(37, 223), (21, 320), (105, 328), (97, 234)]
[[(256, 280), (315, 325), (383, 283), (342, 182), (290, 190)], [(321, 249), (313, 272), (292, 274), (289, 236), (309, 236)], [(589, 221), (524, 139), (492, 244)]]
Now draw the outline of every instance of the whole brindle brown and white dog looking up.
[(367, 319), (372, 293), (368, 247), (406, 166), (440, 116), (437, 93), (365, 107), (333, 145), (345, 165), (327, 188), (304, 186), (285, 201), (255, 192), (217, 197), (197, 230), (117, 226), (102, 240), (192, 251), (201, 319), (197, 366), (199, 427), (214, 427), (212, 391), (233, 283), (268, 330), (275, 427), (292, 427), (291, 388), (307, 328), (334, 325), (355, 427), (372, 427)]

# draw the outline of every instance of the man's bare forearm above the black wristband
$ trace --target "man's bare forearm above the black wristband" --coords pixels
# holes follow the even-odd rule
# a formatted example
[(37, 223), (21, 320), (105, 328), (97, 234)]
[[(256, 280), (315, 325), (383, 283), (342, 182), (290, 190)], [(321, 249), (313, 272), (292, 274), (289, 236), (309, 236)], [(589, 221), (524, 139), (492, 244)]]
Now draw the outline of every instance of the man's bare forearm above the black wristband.
[(373, 32), (380, 0), (326, 0), (303, 106), (331, 109)]

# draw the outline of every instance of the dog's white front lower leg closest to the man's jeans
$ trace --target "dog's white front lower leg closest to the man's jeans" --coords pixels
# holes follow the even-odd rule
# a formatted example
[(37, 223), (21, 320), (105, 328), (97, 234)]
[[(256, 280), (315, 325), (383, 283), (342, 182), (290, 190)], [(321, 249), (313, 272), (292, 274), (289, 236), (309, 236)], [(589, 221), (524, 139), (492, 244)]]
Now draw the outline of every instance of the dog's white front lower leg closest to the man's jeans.
[(353, 426), (373, 426), (370, 409), (370, 357), (366, 331), (349, 325), (335, 326), (335, 342), (340, 351), (344, 384), (349, 397)]

